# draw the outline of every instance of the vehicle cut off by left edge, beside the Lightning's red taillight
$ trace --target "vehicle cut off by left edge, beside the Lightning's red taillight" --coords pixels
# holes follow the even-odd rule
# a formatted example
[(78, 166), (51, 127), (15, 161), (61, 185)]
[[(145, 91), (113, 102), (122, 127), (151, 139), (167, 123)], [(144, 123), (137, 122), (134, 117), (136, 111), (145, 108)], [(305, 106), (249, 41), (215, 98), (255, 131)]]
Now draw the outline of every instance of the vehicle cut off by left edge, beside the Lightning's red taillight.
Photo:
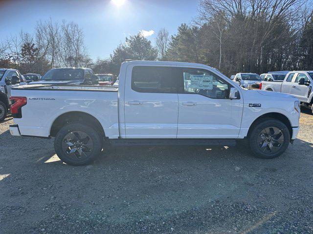
[(11, 89), (27, 84), (16, 69), (0, 69), (0, 121), (4, 120), (11, 105)]

